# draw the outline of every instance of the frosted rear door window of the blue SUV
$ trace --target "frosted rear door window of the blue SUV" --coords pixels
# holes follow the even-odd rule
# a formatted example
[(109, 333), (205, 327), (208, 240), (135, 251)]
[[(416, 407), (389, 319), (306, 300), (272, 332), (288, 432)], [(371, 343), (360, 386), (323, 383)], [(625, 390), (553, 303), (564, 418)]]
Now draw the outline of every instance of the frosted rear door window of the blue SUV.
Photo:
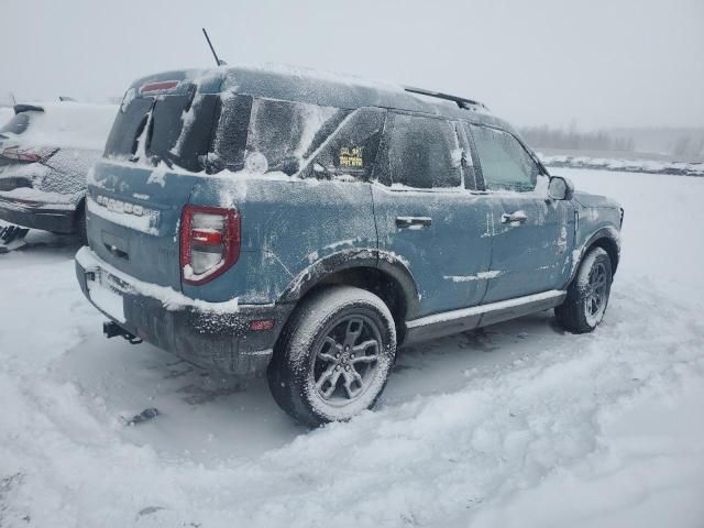
[(378, 179), (420, 189), (462, 186), (462, 148), (454, 123), (391, 114)]

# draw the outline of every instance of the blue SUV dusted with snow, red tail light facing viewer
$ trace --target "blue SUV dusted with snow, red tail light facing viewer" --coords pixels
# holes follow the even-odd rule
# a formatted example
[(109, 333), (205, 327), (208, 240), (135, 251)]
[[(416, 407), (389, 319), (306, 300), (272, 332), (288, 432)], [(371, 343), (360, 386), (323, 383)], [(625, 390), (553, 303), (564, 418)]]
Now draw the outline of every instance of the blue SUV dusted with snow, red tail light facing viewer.
[(472, 100), (169, 72), (124, 96), (76, 272), (108, 337), (266, 372), (282, 408), (319, 425), (374, 405), (400, 344), (551, 308), (593, 330), (622, 220)]

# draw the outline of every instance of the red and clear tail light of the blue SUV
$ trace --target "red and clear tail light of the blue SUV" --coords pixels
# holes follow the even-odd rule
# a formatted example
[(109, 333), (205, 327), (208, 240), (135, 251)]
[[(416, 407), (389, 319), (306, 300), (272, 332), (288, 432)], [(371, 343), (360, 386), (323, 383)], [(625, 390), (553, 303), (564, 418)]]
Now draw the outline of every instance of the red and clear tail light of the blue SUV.
[(205, 284), (240, 257), (240, 215), (235, 209), (187, 205), (180, 217), (184, 283)]

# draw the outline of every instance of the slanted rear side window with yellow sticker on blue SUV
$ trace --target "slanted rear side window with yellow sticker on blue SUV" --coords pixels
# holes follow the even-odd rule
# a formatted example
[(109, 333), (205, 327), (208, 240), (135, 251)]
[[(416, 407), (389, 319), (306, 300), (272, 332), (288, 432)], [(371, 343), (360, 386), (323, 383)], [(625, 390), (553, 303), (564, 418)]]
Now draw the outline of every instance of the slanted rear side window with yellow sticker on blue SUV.
[(306, 177), (371, 179), (385, 113), (378, 108), (360, 108), (352, 112), (339, 130), (328, 134), (322, 142), (320, 152), (305, 172)]

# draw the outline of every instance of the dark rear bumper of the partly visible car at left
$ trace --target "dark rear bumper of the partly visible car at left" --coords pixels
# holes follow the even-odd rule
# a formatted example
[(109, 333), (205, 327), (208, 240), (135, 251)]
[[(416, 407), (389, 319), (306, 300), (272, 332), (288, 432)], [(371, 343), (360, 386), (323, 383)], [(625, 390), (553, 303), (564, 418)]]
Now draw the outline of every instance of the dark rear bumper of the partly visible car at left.
[(0, 195), (0, 219), (54, 233), (76, 232), (76, 208), (18, 201)]

